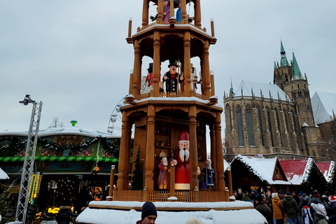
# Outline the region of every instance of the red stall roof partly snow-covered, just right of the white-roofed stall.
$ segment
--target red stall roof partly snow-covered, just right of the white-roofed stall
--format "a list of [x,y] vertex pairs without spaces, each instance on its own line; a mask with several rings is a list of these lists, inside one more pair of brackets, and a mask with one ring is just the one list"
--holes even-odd
[[319,172],[318,175],[321,174],[321,181],[324,181],[326,183],[323,174],[316,166],[314,160],[311,158],[308,158],[308,160],[281,160],[280,164],[283,172],[285,172],[288,180],[293,185],[301,185],[302,183],[307,183],[314,167],[316,167],[316,172]]

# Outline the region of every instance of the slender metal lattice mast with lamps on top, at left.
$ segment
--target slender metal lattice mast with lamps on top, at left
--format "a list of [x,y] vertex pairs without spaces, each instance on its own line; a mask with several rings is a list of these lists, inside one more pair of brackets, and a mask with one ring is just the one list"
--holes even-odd
[[36,103],[30,98],[30,95],[27,94],[25,99],[23,99],[23,101],[20,101],[20,104],[27,106],[29,103],[33,104],[33,110],[31,112],[27,148],[25,153],[25,162],[22,168],[18,207],[16,209],[15,215],[15,221],[21,221],[22,223],[26,223],[27,218],[29,190],[31,184],[31,176],[33,176],[34,170],[34,159],[38,139],[38,127],[40,125],[42,109],[42,102]]

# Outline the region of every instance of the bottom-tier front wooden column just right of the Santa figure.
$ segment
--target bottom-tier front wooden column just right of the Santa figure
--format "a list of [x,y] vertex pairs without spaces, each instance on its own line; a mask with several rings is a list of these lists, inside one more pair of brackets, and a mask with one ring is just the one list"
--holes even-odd
[[189,107],[189,151],[190,151],[190,190],[198,188],[197,168],[197,121],[196,106]]

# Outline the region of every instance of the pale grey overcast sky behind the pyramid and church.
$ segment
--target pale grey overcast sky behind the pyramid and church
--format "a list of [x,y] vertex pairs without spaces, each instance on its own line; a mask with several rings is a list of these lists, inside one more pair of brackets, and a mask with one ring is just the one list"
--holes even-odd
[[[142,2],[0,0],[0,132],[29,129],[31,104],[19,104],[25,94],[43,102],[40,130],[55,117],[66,126],[77,120],[76,126],[107,131],[113,109],[128,94],[134,50],[125,38],[129,18],[132,34],[141,26]],[[201,4],[202,27],[209,34],[211,18],[215,22],[218,41],[209,48],[210,67],[222,106],[231,78],[234,89],[241,79],[273,82],[280,40],[288,61],[294,51],[301,72],[307,73],[311,96],[336,92],[336,1]],[[187,10],[193,15],[193,5]],[[149,62],[144,59],[143,76]],[[198,63],[194,66],[200,71]]]

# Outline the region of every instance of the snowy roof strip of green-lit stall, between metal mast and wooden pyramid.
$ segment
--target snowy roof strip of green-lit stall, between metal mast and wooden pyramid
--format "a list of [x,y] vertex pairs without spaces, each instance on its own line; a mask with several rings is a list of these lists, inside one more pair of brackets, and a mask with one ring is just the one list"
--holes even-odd
[[116,137],[113,134],[109,134],[106,132],[99,132],[96,130],[90,130],[83,127],[52,127],[47,130],[39,130],[38,136],[45,137],[48,135],[59,135],[59,134],[77,134],[83,135],[87,137],[105,137],[105,138],[113,138]]

